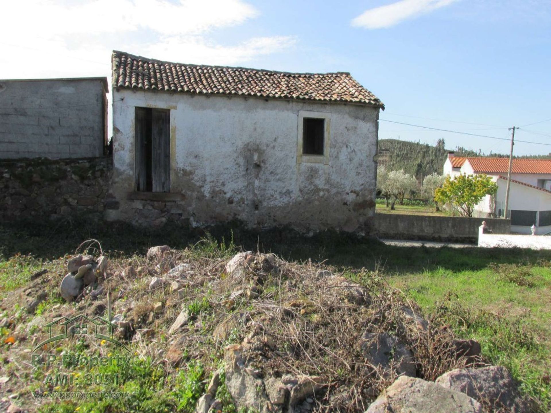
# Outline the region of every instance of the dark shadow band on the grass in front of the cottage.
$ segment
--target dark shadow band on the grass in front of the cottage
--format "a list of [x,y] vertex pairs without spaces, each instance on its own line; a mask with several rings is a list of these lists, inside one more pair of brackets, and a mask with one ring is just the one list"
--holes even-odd
[[122,222],[65,221],[12,222],[0,225],[0,258],[14,254],[33,254],[53,259],[74,253],[85,240],[101,242],[104,251],[123,256],[145,254],[154,245],[172,248],[192,246],[210,233],[219,242],[244,250],[274,252],[287,260],[326,260],[327,264],[345,268],[383,268],[387,273],[409,273],[445,268],[451,271],[479,270],[492,262],[526,263],[551,260],[551,251],[503,248],[432,248],[388,246],[374,238],[358,239],[353,235],[323,231],[305,237],[295,230],[276,228],[266,231],[245,229],[239,222],[206,229],[165,226],[162,229],[138,229]]

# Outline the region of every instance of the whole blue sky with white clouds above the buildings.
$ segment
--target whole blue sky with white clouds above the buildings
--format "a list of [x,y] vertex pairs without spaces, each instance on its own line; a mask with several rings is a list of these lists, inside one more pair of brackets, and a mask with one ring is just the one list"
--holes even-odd
[[[343,71],[385,102],[381,119],[498,138],[515,125],[516,139],[551,144],[551,120],[523,128],[551,119],[549,0],[28,0],[3,14],[0,78],[109,77],[113,49]],[[380,139],[398,136],[509,151],[506,140],[380,123]],[[515,145],[518,155],[548,153]]]

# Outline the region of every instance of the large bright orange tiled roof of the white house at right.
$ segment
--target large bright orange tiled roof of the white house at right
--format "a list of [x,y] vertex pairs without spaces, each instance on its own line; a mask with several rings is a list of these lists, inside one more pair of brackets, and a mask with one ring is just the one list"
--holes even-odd
[[[468,157],[469,164],[477,173],[506,173],[509,158]],[[512,173],[551,173],[551,159],[513,159]]]

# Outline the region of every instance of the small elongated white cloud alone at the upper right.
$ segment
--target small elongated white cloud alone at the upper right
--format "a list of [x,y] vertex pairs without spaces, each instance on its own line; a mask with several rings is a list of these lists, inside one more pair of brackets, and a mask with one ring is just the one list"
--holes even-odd
[[352,25],[366,29],[382,29],[407,19],[448,6],[457,0],[400,0],[386,6],[366,10],[352,20]]

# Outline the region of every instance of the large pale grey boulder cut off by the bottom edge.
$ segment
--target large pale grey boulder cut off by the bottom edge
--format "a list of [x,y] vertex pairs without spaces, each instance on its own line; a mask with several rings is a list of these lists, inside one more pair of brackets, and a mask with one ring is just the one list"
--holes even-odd
[[482,413],[469,396],[422,379],[401,376],[365,413]]

